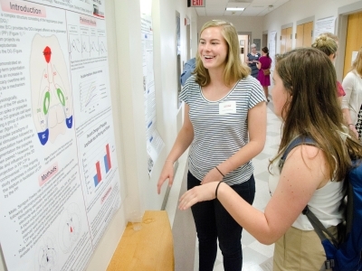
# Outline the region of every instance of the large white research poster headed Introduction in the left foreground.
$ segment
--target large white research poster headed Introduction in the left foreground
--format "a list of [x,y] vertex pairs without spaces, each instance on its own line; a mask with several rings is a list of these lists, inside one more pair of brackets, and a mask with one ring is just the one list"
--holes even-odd
[[0,0],[9,271],[84,270],[120,205],[104,0]]

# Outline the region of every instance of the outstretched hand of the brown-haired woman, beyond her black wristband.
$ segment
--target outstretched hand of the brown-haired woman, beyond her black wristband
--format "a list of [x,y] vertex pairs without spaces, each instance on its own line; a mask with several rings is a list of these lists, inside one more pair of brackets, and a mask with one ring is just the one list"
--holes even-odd
[[209,182],[195,186],[193,189],[185,192],[179,200],[178,209],[186,210],[197,202],[214,200],[218,183],[219,182]]

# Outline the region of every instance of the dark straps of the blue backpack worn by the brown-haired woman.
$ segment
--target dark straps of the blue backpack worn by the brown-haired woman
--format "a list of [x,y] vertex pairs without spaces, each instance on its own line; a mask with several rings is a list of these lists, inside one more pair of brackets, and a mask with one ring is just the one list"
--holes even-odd
[[[317,145],[317,143],[308,136],[297,136],[296,138],[294,138],[291,141],[290,145],[288,145],[287,148],[285,149],[284,154],[281,155],[281,161],[279,162],[280,171],[285,163],[285,160],[287,159],[288,154],[297,145]],[[314,230],[319,236],[320,241],[327,239],[326,235],[324,234],[326,233],[329,236],[329,238],[331,238],[333,245],[336,248],[338,247],[338,241],[336,240],[336,238],[334,238],[333,235],[328,231],[328,229],[326,229],[323,226],[323,224],[319,221],[319,219],[317,219],[315,214],[308,208],[308,205],[304,208],[302,214],[306,215],[308,220],[310,220],[310,224],[311,226],[313,226]]]

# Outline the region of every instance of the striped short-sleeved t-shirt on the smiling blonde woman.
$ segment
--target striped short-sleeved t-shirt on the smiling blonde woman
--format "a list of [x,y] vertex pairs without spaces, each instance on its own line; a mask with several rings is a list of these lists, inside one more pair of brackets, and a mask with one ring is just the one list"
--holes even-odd
[[[214,166],[223,163],[249,142],[248,111],[265,101],[265,96],[259,81],[248,76],[240,79],[224,98],[210,101],[195,83],[195,76],[191,76],[186,80],[180,98],[189,106],[189,117],[194,127],[188,169],[201,182]],[[220,105],[235,105],[236,110],[219,114]],[[224,182],[229,185],[246,182],[252,172],[252,161],[249,161],[226,174]]]

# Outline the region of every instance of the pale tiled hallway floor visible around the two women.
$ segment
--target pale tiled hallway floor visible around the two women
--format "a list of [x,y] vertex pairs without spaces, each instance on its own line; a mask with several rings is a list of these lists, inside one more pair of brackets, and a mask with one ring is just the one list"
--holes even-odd
[[[268,165],[269,159],[273,154],[276,154],[280,143],[281,136],[281,120],[272,112],[272,102],[268,104],[268,126],[265,147],[262,153],[256,156],[252,163],[254,165],[254,177],[256,181],[256,194],[253,206],[259,210],[264,210],[267,202],[270,199],[268,188]],[[183,173],[185,173],[186,155],[184,154],[179,159],[179,168],[176,173],[173,189],[171,189],[169,200],[167,202],[167,212],[170,218],[171,225],[173,225],[175,217],[175,209],[178,199],[179,190],[176,189],[180,185]],[[175,225],[174,225],[175,226]],[[266,271],[271,270],[272,253],[274,245],[265,246],[259,243],[252,237],[246,230],[243,230],[243,270],[246,271]],[[177,244],[175,244],[177,246]],[[195,264],[194,270],[198,270],[198,253],[197,253],[197,240],[195,240]],[[223,271],[223,256],[219,250],[217,253],[214,271]]]

